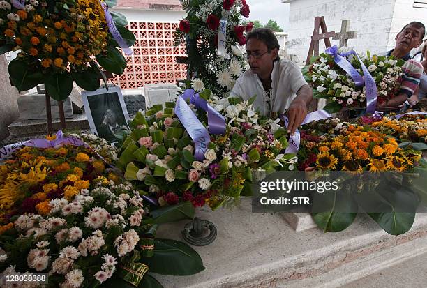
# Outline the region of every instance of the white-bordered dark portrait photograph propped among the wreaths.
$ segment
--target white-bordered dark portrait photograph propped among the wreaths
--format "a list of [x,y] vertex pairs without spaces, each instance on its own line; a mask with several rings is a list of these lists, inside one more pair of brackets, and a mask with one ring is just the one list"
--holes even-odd
[[129,114],[119,87],[83,91],[84,112],[93,134],[116,142],[114,134],[129,130]]

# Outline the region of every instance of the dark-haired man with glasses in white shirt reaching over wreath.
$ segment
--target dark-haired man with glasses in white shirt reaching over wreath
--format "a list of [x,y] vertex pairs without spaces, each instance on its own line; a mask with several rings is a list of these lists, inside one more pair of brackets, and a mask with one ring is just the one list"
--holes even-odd
[[246,35],[249,70],[237,79],[230,96],[248,100],[257,96],[254,107],[265,116],[287,112],[288,132],[293,134],[307,115],[313,92],[291,61],[279,59],[280,45],[270,29],[255,29]]

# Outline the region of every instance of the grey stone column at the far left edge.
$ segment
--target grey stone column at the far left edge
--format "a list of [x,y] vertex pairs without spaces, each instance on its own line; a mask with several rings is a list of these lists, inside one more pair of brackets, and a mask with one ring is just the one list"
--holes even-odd
[[15,87],[10,85],[8,73],[8,61],[6,56],[0,55],[0,142],[9,135],[8,126],[20,116],[17,107],[19,93]]

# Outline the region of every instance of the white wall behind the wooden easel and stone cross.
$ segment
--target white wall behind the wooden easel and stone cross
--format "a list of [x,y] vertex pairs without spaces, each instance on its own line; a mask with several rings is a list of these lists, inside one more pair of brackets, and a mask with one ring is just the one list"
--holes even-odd
[[[389,47],[396,0],[284,0],[283,2],[290,3],[287,53],[297,54],[301,61],[306,61],[316,16],[324,16],[328,31],[336,32],[340,31],[342,20],[350,20],[350,31],[357,31],[358,35],[357,39],[348,41],[348,46],[354,47],[359,52],[366,50],[373,53],[384,52]],[[408,6],[406,2],[412,1],[398,2],[405,2],[401,4]],[[331,44],[338,45],[338,40],[332,40]],[[321,41],[320,51],[323,50],[324,43]]]

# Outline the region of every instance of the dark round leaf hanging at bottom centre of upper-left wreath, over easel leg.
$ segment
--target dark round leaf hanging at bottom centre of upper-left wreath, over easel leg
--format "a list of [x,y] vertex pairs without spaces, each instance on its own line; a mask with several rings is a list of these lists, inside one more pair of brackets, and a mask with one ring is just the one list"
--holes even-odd
[[73,91],[73,77],[70,73],[50,74],[45,77],[46,93],[54,100],[66,100]]

